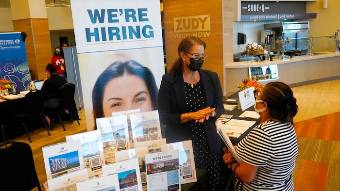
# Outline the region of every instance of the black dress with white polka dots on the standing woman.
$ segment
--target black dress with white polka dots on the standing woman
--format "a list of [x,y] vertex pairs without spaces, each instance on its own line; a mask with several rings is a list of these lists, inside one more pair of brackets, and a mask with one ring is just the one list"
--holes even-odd
[[[195,112],[204,109],[205,95],[202,81],[200,80],[198,83],[193,84],[193,87],[185,81],[184,86],[188,111]],[[191,120],[188,123],[191,125],[190,137],[192,140],[195,165],[197,168],[208,171],[208,185],[210,186],[210,190],[214,191],[216,190],[215,186],[220,174],[219,156],[214,157],[211,154],[204,125],[199,122],[195,123],[195,120]]]

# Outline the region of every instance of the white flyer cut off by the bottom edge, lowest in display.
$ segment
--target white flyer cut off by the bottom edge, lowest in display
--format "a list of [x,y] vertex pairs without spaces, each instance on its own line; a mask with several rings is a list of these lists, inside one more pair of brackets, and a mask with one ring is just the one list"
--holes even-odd
[[[96,179],[77,183],[78,191],[121,191],[119,189],[118,175],[107,175]],[[135,190],[127,190],[135,191]]]

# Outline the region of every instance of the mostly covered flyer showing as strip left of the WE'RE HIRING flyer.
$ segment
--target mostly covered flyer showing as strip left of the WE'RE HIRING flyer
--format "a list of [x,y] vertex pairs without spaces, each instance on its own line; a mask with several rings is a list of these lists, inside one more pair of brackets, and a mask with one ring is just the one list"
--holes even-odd
[[143,191],[147,190],[146,186],[146,166],[145,166],[145,155],[148,154],[148,147],[143,146],[139,148],[133,148],[128,150],[117,151],[115,153],[116,162],[120,162],[128,159],[138,159],[140,179],[142,182]]

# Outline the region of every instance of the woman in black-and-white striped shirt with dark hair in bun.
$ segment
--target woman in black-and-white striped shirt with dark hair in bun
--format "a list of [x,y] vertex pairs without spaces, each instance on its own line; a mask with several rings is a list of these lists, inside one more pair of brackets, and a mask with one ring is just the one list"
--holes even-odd
[[289,86],[268,83],[255,101],[261,122],[235,146],[241,163],[224,148],[223,160],[235,170],[238,191],[294,191],[298,155],[293,117],[298,111]]

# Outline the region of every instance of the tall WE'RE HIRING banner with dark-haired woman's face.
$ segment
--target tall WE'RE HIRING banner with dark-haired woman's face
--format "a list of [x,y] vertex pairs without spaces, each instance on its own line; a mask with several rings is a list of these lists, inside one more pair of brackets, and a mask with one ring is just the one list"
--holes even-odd
[[71,0],[87,130],[112,112],[157,110],[159,0]]

